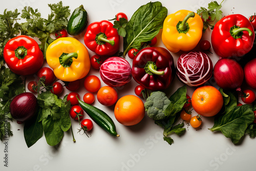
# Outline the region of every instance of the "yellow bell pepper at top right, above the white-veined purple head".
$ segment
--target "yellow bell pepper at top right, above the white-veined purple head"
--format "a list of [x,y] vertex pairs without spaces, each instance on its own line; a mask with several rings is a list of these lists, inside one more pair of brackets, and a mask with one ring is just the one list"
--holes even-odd
[[168,15],[163,23],[162,41],[173,53],[193,50],[202,37],[201,17],[188,10],[179,10]]

